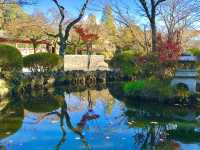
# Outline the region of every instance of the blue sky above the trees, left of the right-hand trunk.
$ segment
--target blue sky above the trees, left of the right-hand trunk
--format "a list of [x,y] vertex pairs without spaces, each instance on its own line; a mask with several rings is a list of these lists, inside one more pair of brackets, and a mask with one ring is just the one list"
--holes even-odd
[[[85,0],[58,0],[61,5],[65,7],[65,9],[69,12],[71,17],[75,17],[78,15],[79,9]],[[126,4],[130,7],[130,9],[135,10],[133,14],[133,18],[140,25],[144,24],[144,18],[141,19],[137,14],[137,7],[134,5],[135,0],[91,0],[90,5],[88,6],[90,9],[87,10],[86,14],[94,13],[97,16],[97,19],[100,20],[102,17],[102,8],[105,3],[122,3]],[[39,9],[40,11],[47,12],[50,8],[56,8],[54,2],[52,0],[37,0],[37,4],[34,6],[24,6],[24,10],[31,14],[34,9]],[[91,10],[92,8],[92,10]],[[94,11],[95,9],[95,11]],[[97,9],[97,10],[96,10]]]

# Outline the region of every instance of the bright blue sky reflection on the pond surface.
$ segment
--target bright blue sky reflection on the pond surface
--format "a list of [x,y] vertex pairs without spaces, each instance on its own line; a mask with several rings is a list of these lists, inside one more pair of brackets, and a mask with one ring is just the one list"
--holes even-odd
[[[67,102],[69,109],[72,108],[69,111],[71,123],[76,127],[82,116],[88,111],[87,101],[81,101],[78,96],[70,95]],[[77,105],[81,109],[74,111]],[[105,100],[103,101],[99,98],[94,103],[93,110],[93,113],[100,115],[100,118],[88,121],[83,130],[83,135],[91,149],[140,149],[135,144],[133,135],[141,129],[128,127],[128,121],[124,115],[126,107],[122,102],[114,100],[112,111],[108,113]],[[42,115],[28,112],[24,118],[23,126],[18,132],[3,139],[0,141],[0,144],[6,145],[8,150],[56,149],[56,145],[60,142],[63,135],[59,117],[52,115],[35,124],[36,120]],[[66,141],[61,144],[60,149],[79,150],[85,148],[80,136],[71,131],[66,124],[65,130]],[[200,149],[198,144],[181,144],[181,147],[183,150]]]

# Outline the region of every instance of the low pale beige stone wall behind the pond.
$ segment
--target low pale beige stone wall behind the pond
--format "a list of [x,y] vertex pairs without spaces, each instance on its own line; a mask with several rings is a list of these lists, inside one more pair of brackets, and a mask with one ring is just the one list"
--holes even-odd
[[103,55],[65,55],[64,70],[95,71],[109,70],[109,67],[108,64],[105,63]]

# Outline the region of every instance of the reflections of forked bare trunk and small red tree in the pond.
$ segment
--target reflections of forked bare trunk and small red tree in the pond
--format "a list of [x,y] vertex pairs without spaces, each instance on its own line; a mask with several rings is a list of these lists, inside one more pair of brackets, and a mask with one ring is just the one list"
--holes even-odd
[[67,100],[66,100],[67,97],[68,97],[68,94],[65,93],[65,96],[63,96],[63,99],[62,100],[60,99],[60,110],[55,110],[55,111],[44,114],[37,121],[37,123],[51,115],[56,115],[59,118],[60,128],[62,131],[62,137],[59,140],[58,144],[56,145],[56,148],[55,148],[56,150],[60,149],[60,147],[65,143],[65,141],[67,139],[67,137],[66,137],[67,133],[66,133],[66,129],[64,127],[65,124],[67,125],[68,129],[70,129],[73,133],[75,133],[76,135],[78,135],[80,137],[80,140],[82,141],[84,147],[86,149],[90,149],[90,146],[87,143],[85,136],[83,135],[83,130],[88,121],[96,120],[99,118],[99,115],[95,114],[93,111],[93,101],[91,98],[91,93],[89,90],[87,91],[88,111],[82,115],[82,117],[81,117],[80,121],[77,123],[76,127],[73,126],[70,115],[68,113],[68,104],[67,104]]

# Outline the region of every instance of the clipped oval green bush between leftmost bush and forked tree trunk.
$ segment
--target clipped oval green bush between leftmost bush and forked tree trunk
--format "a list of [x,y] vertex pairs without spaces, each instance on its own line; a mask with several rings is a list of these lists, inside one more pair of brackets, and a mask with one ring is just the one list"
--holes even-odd
[[36,53],[24,57],[24,67],[32,72],[49,72],[58,69],[60,57],[50,53]]

